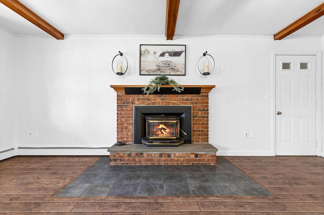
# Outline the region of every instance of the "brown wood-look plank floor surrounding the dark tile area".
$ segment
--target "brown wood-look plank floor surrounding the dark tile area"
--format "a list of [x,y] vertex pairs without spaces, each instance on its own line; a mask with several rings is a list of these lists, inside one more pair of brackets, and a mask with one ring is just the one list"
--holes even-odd
[[0,214],[324,214],[324,157],[228,156],[275,197],[52,197],[100,156],[0,161]]

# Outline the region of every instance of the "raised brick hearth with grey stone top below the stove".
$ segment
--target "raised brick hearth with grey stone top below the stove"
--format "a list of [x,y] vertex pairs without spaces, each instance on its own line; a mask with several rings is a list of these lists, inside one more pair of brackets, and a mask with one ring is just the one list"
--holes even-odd
[[217,148],[195,143],[177,147],[127,144],[108,151],[110,165],[216,165]]

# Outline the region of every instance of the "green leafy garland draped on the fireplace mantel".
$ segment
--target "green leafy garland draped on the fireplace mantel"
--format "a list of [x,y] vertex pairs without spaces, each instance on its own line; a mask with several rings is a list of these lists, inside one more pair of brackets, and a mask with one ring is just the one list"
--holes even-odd
[[184,87],[178,84],[174,79],[162,75],[151,79],[148,84],[144,88],[142,88],[143,93],[150,94],[155,92],[156,90],[159,92],[161,85],[171,85],[173,86],[173,91],[177,92],[184,90]]

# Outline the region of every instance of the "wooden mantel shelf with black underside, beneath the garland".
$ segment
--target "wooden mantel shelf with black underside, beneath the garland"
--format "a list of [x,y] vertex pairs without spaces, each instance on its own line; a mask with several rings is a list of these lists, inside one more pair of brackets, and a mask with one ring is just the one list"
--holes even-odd
[[[142,88],[146,85],[110,85],[116,92],[125,94],[143,94]],[[200,94],[201,92],[210,92],[215,85],[182,85],[184,87],[183,92],[172,91],[173,86],[162,85],[160,92],[154,92],[153,94]]]

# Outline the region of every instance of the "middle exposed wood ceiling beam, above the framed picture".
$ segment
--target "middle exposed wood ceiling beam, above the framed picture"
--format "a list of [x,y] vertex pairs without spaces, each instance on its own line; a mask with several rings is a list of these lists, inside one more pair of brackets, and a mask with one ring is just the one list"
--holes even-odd
[[172,40],[176,31],[180,0],[167,0],[166,37]]

